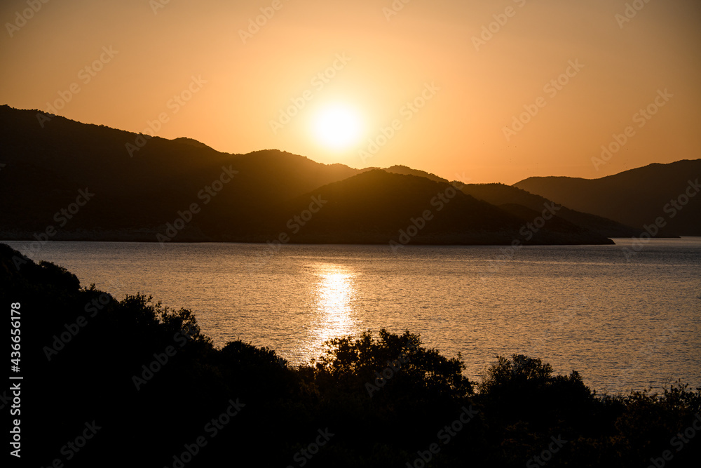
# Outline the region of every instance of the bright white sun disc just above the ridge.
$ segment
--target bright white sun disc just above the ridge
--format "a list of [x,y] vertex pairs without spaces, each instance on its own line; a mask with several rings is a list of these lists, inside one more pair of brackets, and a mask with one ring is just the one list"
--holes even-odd
[[358,141],[361,133],[360,115],[347,105],[328,105],[315,116],[314,134],[327,147],[348,149]]

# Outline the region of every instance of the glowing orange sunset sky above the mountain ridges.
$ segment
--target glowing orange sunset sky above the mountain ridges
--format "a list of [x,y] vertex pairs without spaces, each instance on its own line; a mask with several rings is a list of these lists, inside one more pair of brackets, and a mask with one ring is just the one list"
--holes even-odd
[[3,0],[0,18],[1,104],[222,152],[507,184],[701,157],[698,0]]

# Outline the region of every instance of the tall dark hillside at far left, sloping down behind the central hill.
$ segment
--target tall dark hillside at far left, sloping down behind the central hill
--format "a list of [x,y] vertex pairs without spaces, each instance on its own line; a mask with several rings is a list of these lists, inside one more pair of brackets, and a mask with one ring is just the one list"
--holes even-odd
[[[226,154],[189,138],[146,138],[61,116],[42,127],[38,114],[0,106],[6,164],[0,171],[0,234],[6,239],[28,239],[53,225],[62,228],[54,239],[153,241],[192,203],[201,211],[179,240],[217,239],[281,200],[358,172],[273,149]],[[238,173],[209,195],[207,187],[223,168]],[[60,226],[55,213],[86,187],[95,196]]]

